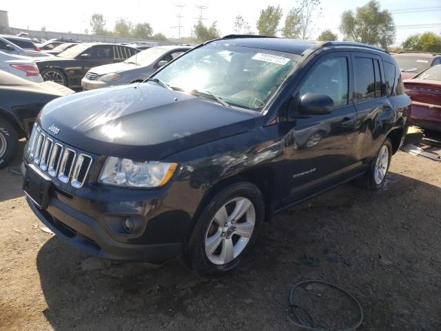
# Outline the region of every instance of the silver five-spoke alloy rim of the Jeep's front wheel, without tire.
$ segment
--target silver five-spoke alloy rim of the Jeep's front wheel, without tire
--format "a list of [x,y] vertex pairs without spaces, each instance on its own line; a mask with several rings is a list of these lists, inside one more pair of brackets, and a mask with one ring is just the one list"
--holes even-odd
[[252,237],[256,210],[249,199],[239,197],[225,203],[214,215],[205,234],[209,261],[223,265],[243,252]]

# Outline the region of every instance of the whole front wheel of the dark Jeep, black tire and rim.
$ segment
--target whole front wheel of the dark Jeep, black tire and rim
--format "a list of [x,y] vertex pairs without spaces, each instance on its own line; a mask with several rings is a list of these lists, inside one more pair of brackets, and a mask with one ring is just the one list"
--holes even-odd
[[[239,210],[247,206],[242,217],[232,217],[240,215]],[[243,263],[252,249],[264,217],[263,195],[255,185],[244,182],[228,186],[216,194],[198,217],[183,248],[185,262],[197,274],[222,274],[233,270]],[[224,220],[227,226],[225,223],[219,225]]]

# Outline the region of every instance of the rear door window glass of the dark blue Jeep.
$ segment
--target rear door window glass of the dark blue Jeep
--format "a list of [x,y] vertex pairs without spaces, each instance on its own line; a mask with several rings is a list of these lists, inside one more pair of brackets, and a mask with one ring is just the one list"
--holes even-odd
[[358,101],[374,99],[376,88],[372,59],[356,57],[353,61],[353,76],[355,80],[354,98]]

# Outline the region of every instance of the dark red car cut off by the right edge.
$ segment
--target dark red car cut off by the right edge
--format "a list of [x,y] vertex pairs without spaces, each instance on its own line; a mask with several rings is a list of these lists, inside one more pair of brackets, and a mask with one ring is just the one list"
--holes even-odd
[[405,80],[404,89],[412,100],[412,123],[441,132],[441,65]]

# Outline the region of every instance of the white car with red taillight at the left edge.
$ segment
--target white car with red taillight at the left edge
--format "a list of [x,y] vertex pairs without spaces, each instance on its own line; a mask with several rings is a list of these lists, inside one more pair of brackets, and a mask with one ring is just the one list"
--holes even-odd
[[21,57],[0,51],[0,70],[10,72],[34,83],[43,83],[39,68],[30,57]]

